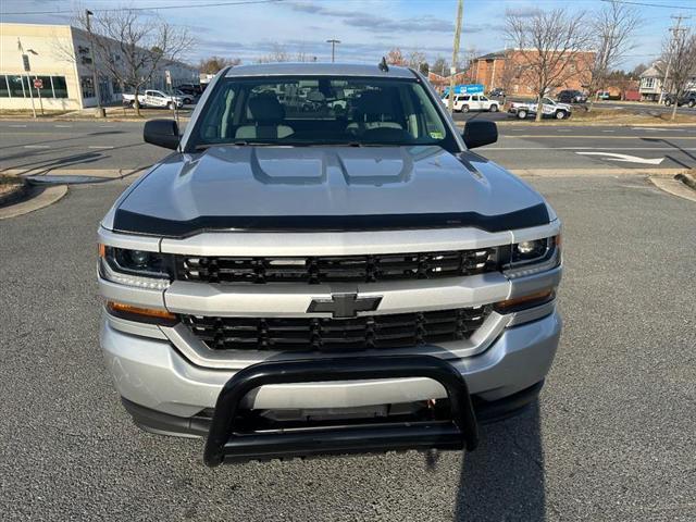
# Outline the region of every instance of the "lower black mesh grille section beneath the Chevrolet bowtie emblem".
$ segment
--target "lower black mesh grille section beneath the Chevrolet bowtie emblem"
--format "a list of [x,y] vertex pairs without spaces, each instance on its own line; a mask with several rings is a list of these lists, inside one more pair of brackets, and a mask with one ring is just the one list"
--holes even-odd
[[490,307],[331,318],[217,318],[182,315],[214,350],[356,351],[467,339]]

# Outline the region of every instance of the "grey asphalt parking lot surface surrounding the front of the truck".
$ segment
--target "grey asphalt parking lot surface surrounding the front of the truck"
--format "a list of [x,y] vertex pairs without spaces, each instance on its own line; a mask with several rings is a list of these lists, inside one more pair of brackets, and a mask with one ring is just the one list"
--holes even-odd
[[0,221],[2,520],[696,520],[696,204],[638,174],[529,179],[564,221],[538,407],[471,455],[226,465],[136,428],[98,346],[96,231],[123,182]]

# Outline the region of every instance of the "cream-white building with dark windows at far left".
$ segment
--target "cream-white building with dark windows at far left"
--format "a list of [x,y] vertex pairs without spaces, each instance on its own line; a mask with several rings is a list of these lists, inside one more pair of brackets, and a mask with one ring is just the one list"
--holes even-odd
[[[28,57],[25,71],[23,52]],[[115,42],[114,42],[115,46]],[[163,63],[146,88],[166,89],[165,70],[172,85],[198,83],[198,70],[181,62]],[[101,102],[121,100],[122,86],[97,64]],[[42,86],[35,88],[40,79]],[[29,89],[30,92],[29,92]],[[87,33],[70,25],[0,24],[0,110],[79,110],[97,104]]]

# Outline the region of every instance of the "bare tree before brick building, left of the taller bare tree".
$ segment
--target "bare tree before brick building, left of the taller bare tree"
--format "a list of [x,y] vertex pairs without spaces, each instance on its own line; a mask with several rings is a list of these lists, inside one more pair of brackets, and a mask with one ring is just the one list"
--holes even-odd
[[585,14],[571,15],[564,9],[536,11],[532,16],[508,12],[506,33],[518,48],[523,77],[536,92],[536,121],[540,121],[542,98],[582,73],[591,42]]

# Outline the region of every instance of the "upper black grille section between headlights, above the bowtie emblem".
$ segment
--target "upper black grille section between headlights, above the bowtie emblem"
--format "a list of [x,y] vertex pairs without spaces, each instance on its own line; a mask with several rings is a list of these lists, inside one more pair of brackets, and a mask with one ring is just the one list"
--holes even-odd
[[332,257],[176,257],[178,279],[306,283],[431,279],[497,270],[496,249]]

